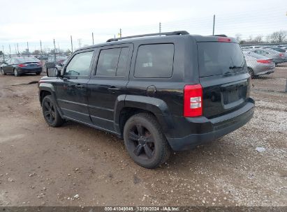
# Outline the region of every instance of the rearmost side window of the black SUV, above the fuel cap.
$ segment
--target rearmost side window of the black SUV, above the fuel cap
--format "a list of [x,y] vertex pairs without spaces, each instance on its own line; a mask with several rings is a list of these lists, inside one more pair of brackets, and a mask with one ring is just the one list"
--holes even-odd
[[174,53],[173,44],[141,45],[135,62],[135,77],[171,77]]

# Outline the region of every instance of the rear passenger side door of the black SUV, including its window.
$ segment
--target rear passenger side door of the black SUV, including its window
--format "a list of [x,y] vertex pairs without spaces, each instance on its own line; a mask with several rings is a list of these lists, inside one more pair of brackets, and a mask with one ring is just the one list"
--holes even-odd
[[89,114],[98,128],[115,131],[115,104],[126,95],[132,52],[132,44],[98,48],[96,69],[87,85]]

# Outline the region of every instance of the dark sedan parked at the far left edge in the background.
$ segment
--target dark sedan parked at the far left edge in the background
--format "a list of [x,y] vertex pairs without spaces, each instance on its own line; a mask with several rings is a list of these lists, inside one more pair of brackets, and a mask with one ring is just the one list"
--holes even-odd
[[13,57],[0,66],[1,75],[14,74],[15,77],[19,77],[24,73],[40,75],[41,72],[41,61],[36,57]]

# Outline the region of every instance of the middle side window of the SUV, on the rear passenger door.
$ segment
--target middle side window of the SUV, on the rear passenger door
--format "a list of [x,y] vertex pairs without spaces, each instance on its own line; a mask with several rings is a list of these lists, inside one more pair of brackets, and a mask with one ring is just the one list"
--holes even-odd
[[96,76],[124,77],[128,61],[128,47],[101,50],[96,66]]

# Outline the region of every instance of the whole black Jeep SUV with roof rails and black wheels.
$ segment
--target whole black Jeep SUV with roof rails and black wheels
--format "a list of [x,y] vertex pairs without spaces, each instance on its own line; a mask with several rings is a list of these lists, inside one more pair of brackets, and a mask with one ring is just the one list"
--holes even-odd
[[253,116],[240,45],[186,31],[114,38],[83,47],[39,83],[45,121],[65,119],[124,138],[128,154],[154,168]]

